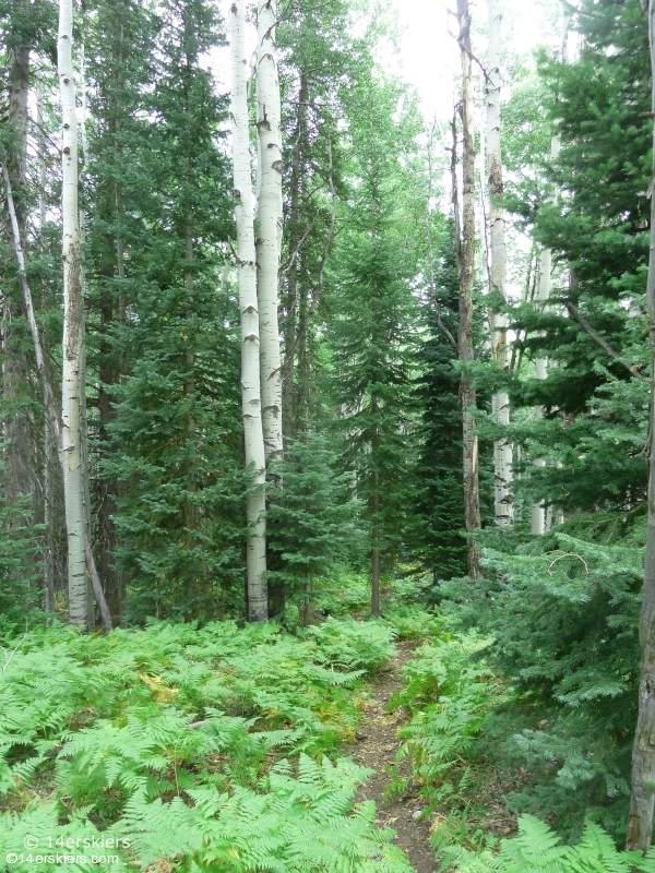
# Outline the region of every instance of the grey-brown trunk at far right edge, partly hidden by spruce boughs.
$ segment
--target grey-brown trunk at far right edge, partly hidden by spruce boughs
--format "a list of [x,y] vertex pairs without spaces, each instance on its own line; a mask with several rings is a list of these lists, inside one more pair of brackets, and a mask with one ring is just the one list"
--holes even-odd
[[[652,109],[655,111],[655,0],[647,7],[651,45]],[[655,145],[655,130],[653,135]],[[653,152],[655,178],[655,150]],[[626,848],[647,851],[653,839],[655,811],[655,196],[651,195],[651,249],[646,300],[651,332],[651,441],[648,456],[648,534],[639,639],[641,678],[639,715],[632,749],[632,778]]]

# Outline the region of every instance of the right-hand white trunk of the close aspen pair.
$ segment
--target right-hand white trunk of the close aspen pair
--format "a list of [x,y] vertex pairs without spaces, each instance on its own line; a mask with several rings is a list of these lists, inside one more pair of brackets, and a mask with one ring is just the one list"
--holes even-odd
[[[257,16],[258,215],[262,423],[266,464],[283,456],[278,273],[282,249],[282,134],[275,23],[277,0],[259,0]],[[279,475],[273,470],[279,485]]]

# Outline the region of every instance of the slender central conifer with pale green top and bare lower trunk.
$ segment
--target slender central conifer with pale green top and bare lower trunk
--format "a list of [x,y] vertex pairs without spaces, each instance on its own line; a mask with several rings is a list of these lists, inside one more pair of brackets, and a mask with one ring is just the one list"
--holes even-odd
[[348,232],[342,235],[337,251],[341,270],[332,303],[338,312],[332,325],[334,398],[355,493],[367,507],[373,615],[380,609],[383,562],[393,563],[401,548],[398,518],[412,469],[407,340],[414,301],[406,234],[414,191],[398,154],[401,147],[412,154],[415,121],[412,105],[402,121],[394,121],[401,96],[393,86],[374,81],[365,82],[355,95],[358,111],[352,115],[350,135],[358,183],[348,210]]

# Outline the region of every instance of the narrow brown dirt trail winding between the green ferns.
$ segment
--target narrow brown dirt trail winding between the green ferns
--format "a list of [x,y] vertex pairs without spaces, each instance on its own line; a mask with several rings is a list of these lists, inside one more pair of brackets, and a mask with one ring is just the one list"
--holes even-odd
[[401,711],[389,715],[385,707],[393,694],[403,686],[403,667],[412,660],[416,644],[401,643],[397,648],[397,656],[372,683],[374,696],[367,706],[358,741],[353,745],[350,754],[358,764],[377,770],[359,790],[358,799],[376,801],[378,824],[396,832],[394,842],[405,851],[416,873],[436,873],[434,850],[428,842],[430,822],[418,818],[421,805],[412,794],[412,789],[391,802],[384,802],[383,799],[389,786],[386,767],[395,763],[401,745],[396,733],[403,721]]

